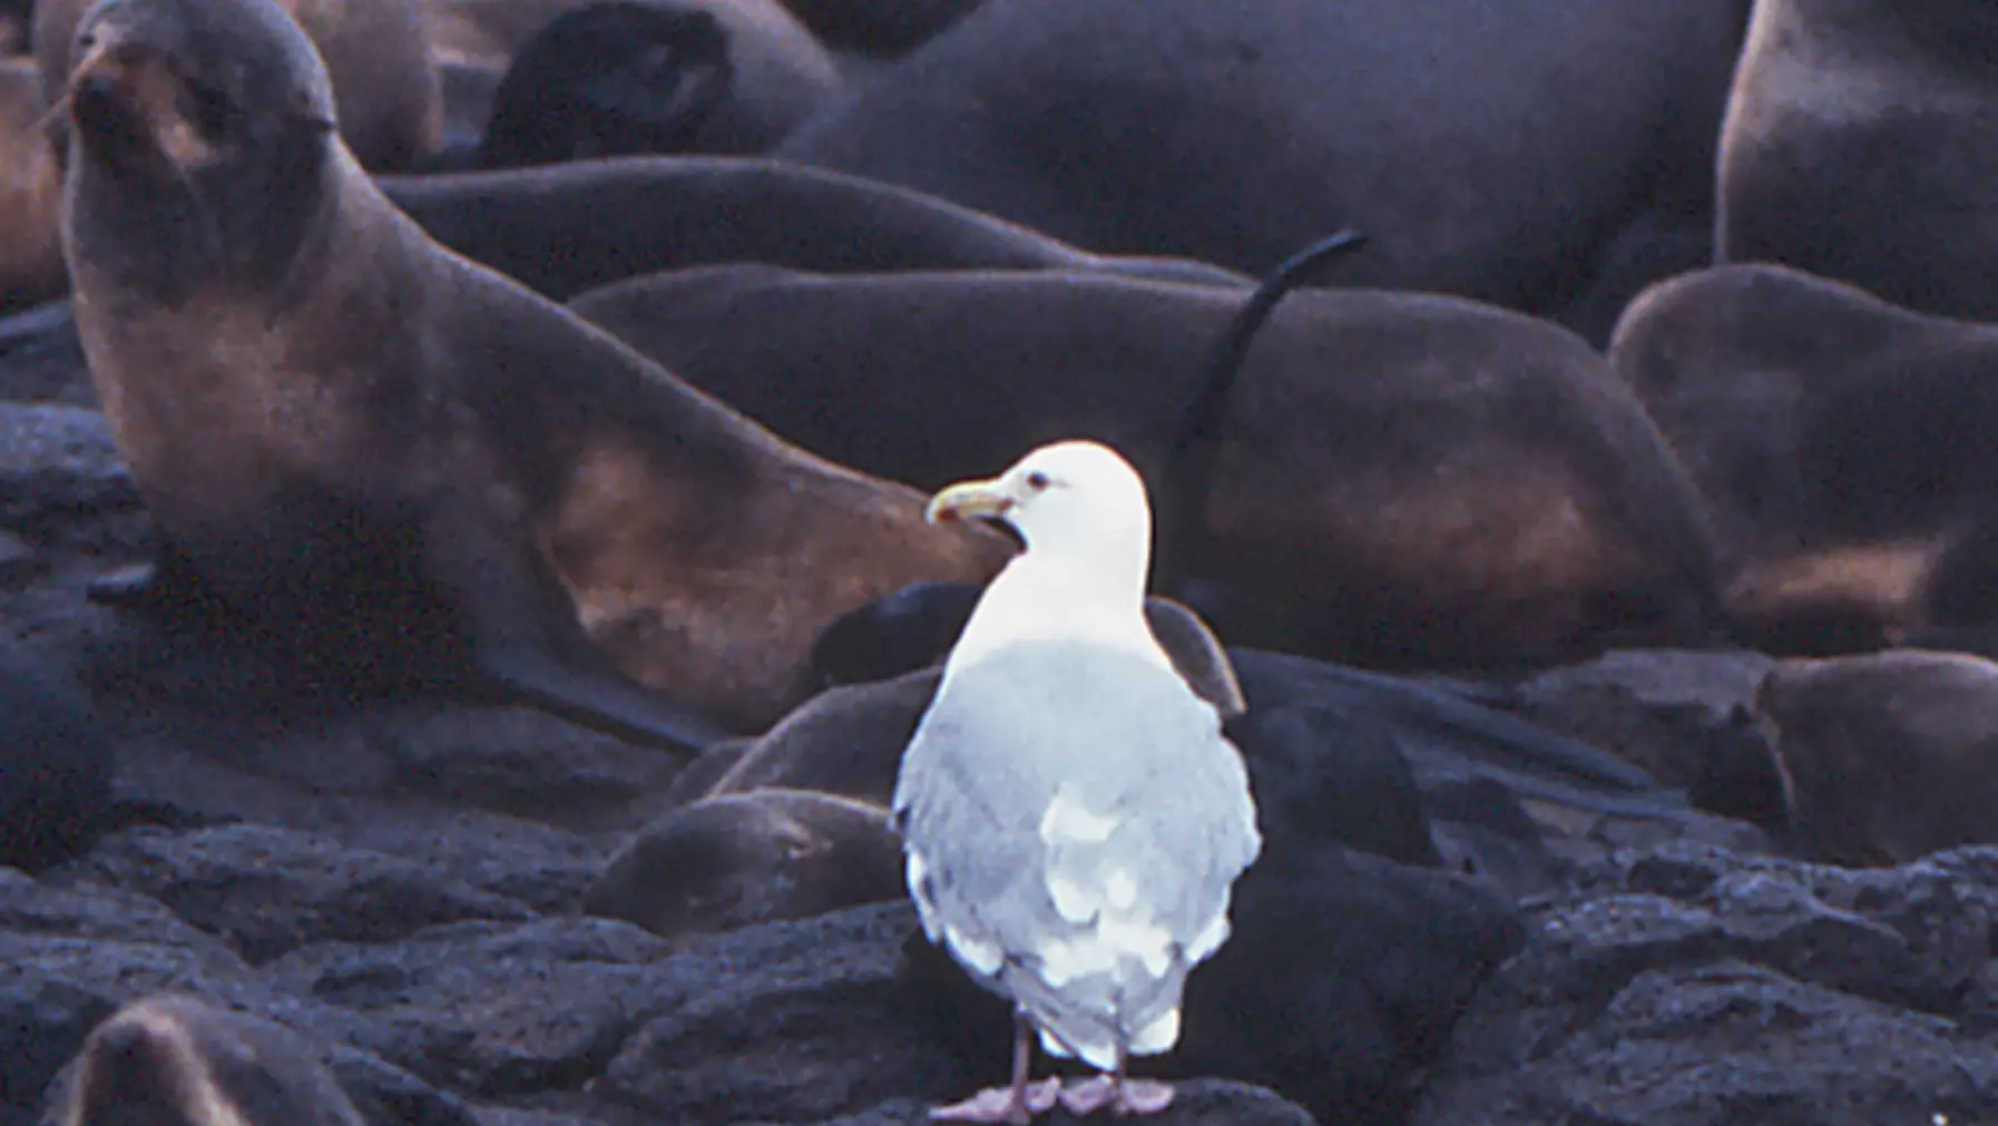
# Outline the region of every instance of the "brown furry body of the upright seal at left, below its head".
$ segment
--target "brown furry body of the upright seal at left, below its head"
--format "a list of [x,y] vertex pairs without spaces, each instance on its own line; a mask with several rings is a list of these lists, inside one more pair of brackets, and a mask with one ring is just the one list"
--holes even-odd
[[[264,0],[206,2],[238,18]],[[82,66],[100,68],[120,70]],[[142,76],[158,62],[122,70],[126,96],[172,136],[178,114]],[[785,445],[436,246],[328,148],[326,210],[282,278],[216,270],[174,278],[168,295],[128,282],[158,248],[94,220],[116,196],[70,176],[78,327],[120,453],[160,525],[238,605],[272,599],[314,551],[404,521],[410,565],[474,641],[559,641],[579,625],[631,679],[753,731],[809,691],[807,653],[829,621],[1003,563],[997,535],[925,525],[919,493]],[[230,250],[254,250],[258,234],[230,230],[216,232],[240,240]]]

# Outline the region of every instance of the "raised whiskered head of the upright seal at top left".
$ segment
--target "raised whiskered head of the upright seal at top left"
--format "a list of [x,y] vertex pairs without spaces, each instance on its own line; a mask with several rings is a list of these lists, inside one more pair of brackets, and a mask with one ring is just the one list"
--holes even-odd
[[66,86],[72,270],[174,301],[268,289],[340,174],[334,90],[272,0],[102,0]]

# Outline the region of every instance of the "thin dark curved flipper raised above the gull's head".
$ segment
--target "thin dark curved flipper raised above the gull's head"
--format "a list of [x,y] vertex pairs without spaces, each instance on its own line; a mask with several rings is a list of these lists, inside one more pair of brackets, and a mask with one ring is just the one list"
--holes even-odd
[[[1157,489],[1159,495],[1153,501],[1159,519],[1153,589],[1179,593],[1189,579],[1203,571],[1207,501],[1215,491],[1215,461],[1221,457],[1221,443],[1227,435],[1229,393],[1241,377],[1243,359],[1249,355],[1249,343],[1257,329],[1269,321],[1277,303],[1291,289],[1363,246],[1367,246],[1367,236],[1351,230],[1311,244],[1279,266],[1249,295],[1249,303],[1229,321],[1229,329],[1221,333],[1207,359],[1207,381],[1187,405],[1187,413],[1181,415],[1179,433],[1173,435],[1173,447],[1167,453],[1163,487]],[[1195,605],[1195,609],[1201,607]]]

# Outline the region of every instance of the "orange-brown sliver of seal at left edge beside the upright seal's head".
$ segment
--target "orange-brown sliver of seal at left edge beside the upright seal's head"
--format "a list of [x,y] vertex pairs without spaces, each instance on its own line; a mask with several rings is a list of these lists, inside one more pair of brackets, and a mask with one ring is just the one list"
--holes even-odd
[[32,58],[0,60],[0,309],[62,293],[62,172]]

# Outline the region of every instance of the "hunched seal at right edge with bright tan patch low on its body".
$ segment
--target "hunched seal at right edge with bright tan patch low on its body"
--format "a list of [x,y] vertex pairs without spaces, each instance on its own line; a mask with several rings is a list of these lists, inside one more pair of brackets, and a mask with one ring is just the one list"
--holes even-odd
[[1706,495],[1742,641],[1876,649],[1998,611],[1972,581],[1998,563],[1972,535],[1994,503],[1998,327],[1736,264],[1646,289],[1610,365]]

